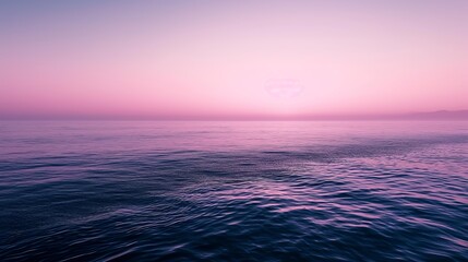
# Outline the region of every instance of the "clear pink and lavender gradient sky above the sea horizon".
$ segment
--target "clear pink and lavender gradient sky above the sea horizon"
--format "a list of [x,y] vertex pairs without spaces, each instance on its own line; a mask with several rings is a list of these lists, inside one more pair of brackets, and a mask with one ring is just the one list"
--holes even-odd
[[3,0],[0,118],[468,109],[466,0]]

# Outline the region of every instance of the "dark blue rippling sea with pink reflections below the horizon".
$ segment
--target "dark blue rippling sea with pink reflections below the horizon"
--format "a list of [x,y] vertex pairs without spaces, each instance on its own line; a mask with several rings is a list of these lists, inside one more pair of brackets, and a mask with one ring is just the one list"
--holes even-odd
[[0,122],[0,261],[468,261],[468,122]]

